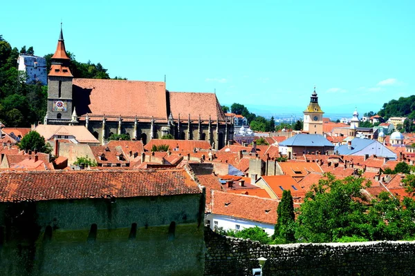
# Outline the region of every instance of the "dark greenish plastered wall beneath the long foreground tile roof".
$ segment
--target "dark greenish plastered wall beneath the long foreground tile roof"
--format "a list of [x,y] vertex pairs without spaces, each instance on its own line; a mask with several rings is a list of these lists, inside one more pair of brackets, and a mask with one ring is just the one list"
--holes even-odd
[[203,275],[204,201],[197,194],[1,203],[1,274]]

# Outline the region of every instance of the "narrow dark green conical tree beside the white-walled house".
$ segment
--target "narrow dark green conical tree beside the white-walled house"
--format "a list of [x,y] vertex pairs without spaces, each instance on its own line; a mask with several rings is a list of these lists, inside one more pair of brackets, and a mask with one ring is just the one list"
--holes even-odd
[[286,242],[295,242],[294,201],[290,190],[284,190],[282,193],[282,199],[277,208],[277,216],[273,239],[279,237]]

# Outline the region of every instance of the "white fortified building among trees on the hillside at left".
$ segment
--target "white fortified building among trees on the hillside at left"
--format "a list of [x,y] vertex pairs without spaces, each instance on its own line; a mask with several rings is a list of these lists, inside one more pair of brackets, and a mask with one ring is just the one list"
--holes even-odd
[[26,83],[37,83],[39,81],[44,86],[48,84],[46,59],[43,57],[19,55],[17,66],[17,70],[26,72]]

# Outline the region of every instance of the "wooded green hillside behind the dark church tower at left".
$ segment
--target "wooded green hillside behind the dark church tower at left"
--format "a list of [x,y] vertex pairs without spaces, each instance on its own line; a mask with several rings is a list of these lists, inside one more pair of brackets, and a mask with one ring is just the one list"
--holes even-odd
[[[0,121],[8,127],[29,127],[30,124],[43,121],[46,115],[48,87],[41,83],[25,83],[26,75],[17,70],[17,58],[20,54],[35,55],[33,46],[21,50],[12,47],[0,34]],[[50,57],[45,55],[47,68],[50,68]],[[107,69],[101,63],[79,62],[73,53],[69,68],[73,77],[110,79]],[[123,79],[116,77],[115,79]]]

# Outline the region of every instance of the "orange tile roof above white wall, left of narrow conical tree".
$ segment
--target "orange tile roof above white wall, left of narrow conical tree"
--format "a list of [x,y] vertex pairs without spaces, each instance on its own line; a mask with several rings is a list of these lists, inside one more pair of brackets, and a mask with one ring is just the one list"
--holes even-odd
[[212,191],[212,213],[216,215],[276,224],[278,204],[275,199]]

